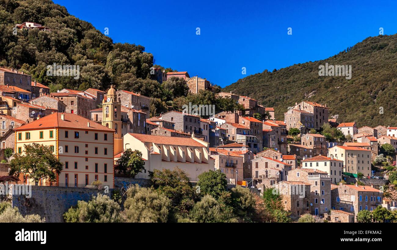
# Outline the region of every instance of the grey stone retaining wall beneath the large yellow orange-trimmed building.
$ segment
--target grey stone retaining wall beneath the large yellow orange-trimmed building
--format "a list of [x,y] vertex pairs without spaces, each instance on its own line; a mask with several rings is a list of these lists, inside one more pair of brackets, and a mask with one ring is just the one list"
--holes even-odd
[[25,195],[12,195],[12,206],[17,207],[22,215],[39,214],[46,222],[64,222],[63,214],[71,207],[77,205],[77,201],[89,201],[98,193],[104,193],[104,189],[75,188],[75,187],[49,187],[31,186],[31,197]]

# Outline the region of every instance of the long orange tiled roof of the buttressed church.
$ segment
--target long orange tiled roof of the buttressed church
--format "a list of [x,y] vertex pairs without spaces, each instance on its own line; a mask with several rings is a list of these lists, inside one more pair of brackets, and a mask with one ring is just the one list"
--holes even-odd
[[129,133],[141,142],[152,142],[156,144],[167,144],[167,145],[180,145],[180,146],[193,146],[193,147],[205,147],[202,143],[192,139],[175,136],[159,136],[151,134],[134,134]]

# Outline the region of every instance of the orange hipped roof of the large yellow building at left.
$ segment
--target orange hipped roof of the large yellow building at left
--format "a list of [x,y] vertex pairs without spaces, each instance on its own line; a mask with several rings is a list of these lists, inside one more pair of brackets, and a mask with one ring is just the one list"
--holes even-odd
[[[61,119],[61,115],[64,115],[64,120]],[[90,123],[90,127],[88,127],[88,123]],[[59,113],[54,112],[48,116],[44,116],[38,120],[34,120],[31,123],[27,123],[19,128],[16,128],[15,131],[21,130],[34,130],[34,129],[43,129],[43,128],[71,128],[71,129],[87,129],[87,130],[104,130],[113,132],[113,129],[109,129],[108,127],[102,126],[99,123],[91,121],[87,118],[76,114],[69,113]]]

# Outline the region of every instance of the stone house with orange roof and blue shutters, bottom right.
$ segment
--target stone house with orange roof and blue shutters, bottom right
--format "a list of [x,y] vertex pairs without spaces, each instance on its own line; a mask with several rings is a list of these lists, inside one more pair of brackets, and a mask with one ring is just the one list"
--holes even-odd
[[[375,210],[382,205],[382,191],[370,186],[331,185],[332,209],[351,212],[357,216],[361,210]],[[357,221],[357,218],[355,218]]]

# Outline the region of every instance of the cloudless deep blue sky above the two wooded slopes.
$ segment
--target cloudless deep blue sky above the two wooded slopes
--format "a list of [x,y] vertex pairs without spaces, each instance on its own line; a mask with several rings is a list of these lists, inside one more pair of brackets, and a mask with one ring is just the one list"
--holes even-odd
[[380,27],[397,33],[397,1],[54,2],[102,33],[109,28],[114,42],[145,46],[156,64],[222,87],[265,69],[325,59],[378,36]]

